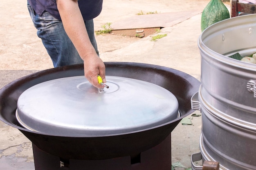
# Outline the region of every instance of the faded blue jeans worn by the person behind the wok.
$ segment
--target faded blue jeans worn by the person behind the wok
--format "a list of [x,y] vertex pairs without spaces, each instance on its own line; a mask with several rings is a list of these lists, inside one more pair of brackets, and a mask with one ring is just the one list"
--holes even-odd
[[[67,36],[61,20],[57,20],[46,11],[42,16],[39,16],[29,4],[27,7],[34,26],[37,29],[37,35],[41,38],[47,53],[52,59],[54,67],[83,63],[76,48]],[[94,36],[93,20],[85,21],[85,26],[90,41],[99,55]]]

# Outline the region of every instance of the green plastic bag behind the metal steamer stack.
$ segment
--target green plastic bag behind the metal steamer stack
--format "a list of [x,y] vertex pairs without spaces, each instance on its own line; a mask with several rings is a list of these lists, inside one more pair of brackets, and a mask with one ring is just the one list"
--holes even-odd
[[208,26],[230,18],[229,10],[221,0],[211,0],[204,8],[201,17],[201,31]]

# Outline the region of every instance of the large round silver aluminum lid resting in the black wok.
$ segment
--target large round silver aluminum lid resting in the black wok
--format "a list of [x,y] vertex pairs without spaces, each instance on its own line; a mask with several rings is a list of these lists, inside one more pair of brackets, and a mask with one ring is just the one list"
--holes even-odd
[[106,79],[105,93],[84,76],[36,84],[18,98],[16,118],[27,129],[72,137],[135,132],[177,118],[177,99],[165,88],[125,77]]

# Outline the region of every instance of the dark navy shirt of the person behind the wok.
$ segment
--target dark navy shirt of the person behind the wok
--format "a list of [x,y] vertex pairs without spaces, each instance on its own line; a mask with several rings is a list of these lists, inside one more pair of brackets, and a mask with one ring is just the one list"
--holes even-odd
[[[102,10],[103,0],[79,0],[79,8],[84,20],[91,20],[97,17]],[[56,0],[27,0],[34,11],[42,16],[44,11],[49,12],[54,18],[61,20],[57,9]]]

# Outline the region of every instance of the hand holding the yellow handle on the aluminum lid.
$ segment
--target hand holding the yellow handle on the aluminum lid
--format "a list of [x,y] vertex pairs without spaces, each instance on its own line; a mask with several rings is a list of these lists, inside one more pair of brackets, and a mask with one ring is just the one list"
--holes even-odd
[[101,76],[102,82],[106,83],[106,75],[105,75],[105,64],[100,59],[100,57],[95,53],[92,55],[88,55],[84,59],[84,73],[85,78],[97,88],[103,88],[101,84],[98,82],[98,75]]

